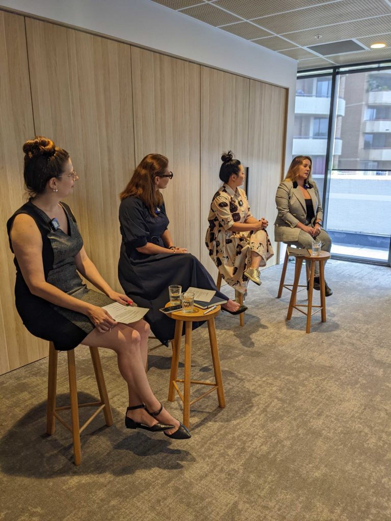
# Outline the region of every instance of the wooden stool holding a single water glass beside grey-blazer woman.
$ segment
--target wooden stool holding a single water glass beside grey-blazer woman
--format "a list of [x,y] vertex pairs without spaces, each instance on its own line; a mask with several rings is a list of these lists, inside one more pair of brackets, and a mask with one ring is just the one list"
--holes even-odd
[[[325,295],[325,288],[324,288],[324,263],[331,257],[331,254],[328,252],[321,251],[319,255],[312,255],[310,253],[308,255],[303,256],[297,256],[296,257],[296,264],[295,264],[295,281],[294,285],[292,287],[292,293],[290,295],[290,302],[288,307],[288,314],[286,319],[290,320],[292,318],[292,312],[295,309],[297,311],[300,311],[300,313],[303,313],[303,315],[307,316],[307,327],[306,327],[306,333],[311,332],[311,317],[318,311],[321,311],[322,315],[322,322],[326,321],[326,295]],[[297,288],[299,286],[299,279],[300,279],[300,272],[301,272],[301,265],[303,264],[303,261],[310,261],[311,263],[311,269],[310,269],[310,287],[308,290],[308,304],[297,304],[296,303],[296,294],[297,294]],[[312,305],[312,293],[314,289],[314,275],[315,275],[315,262],[319,262],[319,282],[321,287],[321,304],[320,306]],[[307,307],[307,312],[303,311],[301,308]],[[315,311],[312,311],[312,308],[316,307]]]

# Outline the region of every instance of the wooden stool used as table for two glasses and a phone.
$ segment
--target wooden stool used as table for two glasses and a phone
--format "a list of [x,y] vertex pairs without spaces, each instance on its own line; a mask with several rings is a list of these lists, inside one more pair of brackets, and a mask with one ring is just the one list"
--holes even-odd
[[[169,305],[166,304],[166,305]],[[175,399],[175,391],[179,394],[179,398],[184,404],[184,419],[183,424],[186,427],[190,425],[190,405],[198,402],[201,398],[204,398],[207,394],[210,394],[214,390],[217,391],[218,406],[225,407],[224,388],[223,388],[223,377],[221,374],[220,357],[218,355],[218,346],[216,338],[216,327],[214,324],[214,318],[220,313],[221,306],[217,306],[214,311],[204,315],[204,310],[194,307],[193,313],[183,313],[177,311],[170,313],[168,316],[173,318],[175,322],[175,336],[173,342],[173,358],[171,362],[171,374],[170,383],[168,389],[168,400],[173,402]],[[204,382],[199,380],[191,379],[191,332],[192,322],[200,322],[201,320],[207,320],[207,329],[209,332],[209,341],[211,344],[212,362],[214,370],[214,382]],[[178,379],[178,364],[179,364],[179,352],[182,336],[182,328],[185,322],[185,375],[183,379]],[[182,382],[184,384],[183,394],[180,392],[177,383]],[[209,389],[205,391],[201,396],[190,401],[190,384],[197,383],[201,386],[209,386]]]

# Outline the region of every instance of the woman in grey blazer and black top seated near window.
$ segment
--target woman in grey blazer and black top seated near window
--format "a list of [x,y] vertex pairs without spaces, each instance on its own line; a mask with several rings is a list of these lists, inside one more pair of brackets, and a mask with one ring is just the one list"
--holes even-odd
[[[322,228],[323,210],[319,190],[311,177],[312,160],[297,156],[289,166],[286,178],[276,193],[278,216],[274,237],[302,248],[311,249],[312,241],[321,241],[322,250],[331,251],[331,238]],[[326,286],[326,296],[332,295]],[[320,290],[319,263],[315,263],[314,289]]]

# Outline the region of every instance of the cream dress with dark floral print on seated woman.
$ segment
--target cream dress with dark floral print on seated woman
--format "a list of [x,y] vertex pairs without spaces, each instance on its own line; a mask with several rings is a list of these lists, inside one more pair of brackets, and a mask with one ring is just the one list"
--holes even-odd
[[205,244],[222,278],[241,293],[247,291],[245,271],[251,263],[251,251],[262,257],[261,266],[274,255],[265,230],[229,231],[235,222],[245,222],[249,217],[252,214],[246,192],[240,188],[234,192],[224,183],[212,199]]

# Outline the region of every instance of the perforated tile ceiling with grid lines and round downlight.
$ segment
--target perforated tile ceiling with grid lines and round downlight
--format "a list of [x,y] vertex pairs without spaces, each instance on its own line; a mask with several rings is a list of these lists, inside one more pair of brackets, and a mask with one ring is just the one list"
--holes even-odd
[[[391,0],[153,2],[294,58],[299,70],[391,60]],[[309,48],[343,40],[353,40],[363,48],[327,56]],[[387,46],[371,49],[374,42]]]

